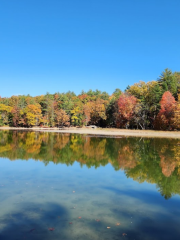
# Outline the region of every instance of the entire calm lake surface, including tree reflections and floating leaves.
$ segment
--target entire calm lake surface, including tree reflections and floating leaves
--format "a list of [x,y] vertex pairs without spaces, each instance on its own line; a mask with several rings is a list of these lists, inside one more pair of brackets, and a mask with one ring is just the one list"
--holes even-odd
[[180,140],[0,131],[0,239],[179,240]]

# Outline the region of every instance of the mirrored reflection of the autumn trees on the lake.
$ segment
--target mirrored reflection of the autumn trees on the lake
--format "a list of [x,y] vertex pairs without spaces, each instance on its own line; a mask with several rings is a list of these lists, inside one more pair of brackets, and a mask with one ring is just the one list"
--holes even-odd
[[110,163],[142,183],[154,183],[166,199],[180,194],[180,140],[98,138],[78,134],[0,131],[0,157],[34,159],[88,168]]

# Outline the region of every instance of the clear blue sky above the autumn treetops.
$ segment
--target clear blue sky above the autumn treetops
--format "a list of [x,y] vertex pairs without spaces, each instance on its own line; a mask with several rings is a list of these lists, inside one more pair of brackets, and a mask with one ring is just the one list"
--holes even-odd
[[112,93],[180,71],[179,0],[1,0],[0,96]]

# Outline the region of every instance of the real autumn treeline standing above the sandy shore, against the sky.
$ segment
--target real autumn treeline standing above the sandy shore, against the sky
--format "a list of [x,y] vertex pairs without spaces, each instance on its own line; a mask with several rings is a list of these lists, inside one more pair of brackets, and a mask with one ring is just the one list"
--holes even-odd
[[180,129],[180,72],[165,69],[112,95],[99,90],[0,98],[0,126],[87,126]]

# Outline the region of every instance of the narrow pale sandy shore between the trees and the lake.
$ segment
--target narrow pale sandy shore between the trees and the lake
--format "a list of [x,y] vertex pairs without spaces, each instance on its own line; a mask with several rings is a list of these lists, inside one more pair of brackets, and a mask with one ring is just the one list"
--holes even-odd
[[153,131],[153,130],[129,130],[129,129],[116,129],[116,128],[15,128],[15,127],[0,127],[0,130],[24,130],[24,131],[41,131],[41,132],[59,132],[59,133],[78,133],[86,135],[97,136],[135,136],[147,138],[180,138],[180,131]]

